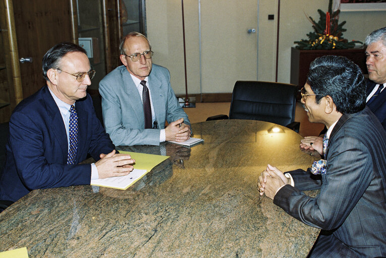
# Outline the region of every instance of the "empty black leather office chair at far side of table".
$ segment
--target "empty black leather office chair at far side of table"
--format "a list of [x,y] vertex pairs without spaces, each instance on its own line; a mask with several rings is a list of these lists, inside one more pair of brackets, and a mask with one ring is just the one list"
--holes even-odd
[[250,119],[277,123],[299,132],[294,122],[296,85],[260,81],[237,81],[233,88],[229,117],[210,116],[206,120]]

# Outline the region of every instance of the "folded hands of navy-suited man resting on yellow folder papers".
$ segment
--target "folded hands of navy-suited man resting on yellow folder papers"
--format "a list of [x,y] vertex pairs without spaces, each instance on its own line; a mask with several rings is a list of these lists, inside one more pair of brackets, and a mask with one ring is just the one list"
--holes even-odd
[[133,171],[134,159],[128,154],[116,154],[115,150],[111,153],[99,155],[100,160],[95,162],[95,166],[98,170],[99,178],[107,178],[112,176],[128,175]]

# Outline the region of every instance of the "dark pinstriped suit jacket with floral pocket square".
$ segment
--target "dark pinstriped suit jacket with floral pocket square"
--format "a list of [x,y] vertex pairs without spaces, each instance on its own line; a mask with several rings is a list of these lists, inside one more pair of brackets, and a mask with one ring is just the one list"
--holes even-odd
[[[290,171],[296,188],[285,185],[273,203],[307,225],[332,231],[330,246],[337,242],[339,249],[328,246],[324,257],[386,256],[385,156],[386,133],[370,109],[345,114],[330,135],[321,181]],[[301,192],[316,188],[315,198]]]

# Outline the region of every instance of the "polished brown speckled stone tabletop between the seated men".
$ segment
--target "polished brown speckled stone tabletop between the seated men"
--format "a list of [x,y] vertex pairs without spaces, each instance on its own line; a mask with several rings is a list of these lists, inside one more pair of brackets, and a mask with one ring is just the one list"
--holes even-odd
[[[121,150],[171,156],[127,190],[39,189],[0,213],[0,251],[29,257],[305,257],[319,230],[258,195],[267,163],[307,168],[300,135],[253,120],[192,125],[192,148]],[[307,194],[316,195],[317,191]]]

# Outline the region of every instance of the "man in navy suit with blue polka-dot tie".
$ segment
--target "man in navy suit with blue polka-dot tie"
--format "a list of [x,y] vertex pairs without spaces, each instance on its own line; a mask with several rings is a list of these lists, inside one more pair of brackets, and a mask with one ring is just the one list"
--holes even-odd
[[[130,155],[115,153],[86,93],[94,74],[86,51],[73,43],[44,55],[47,86],[20,102],[10,119],[0,200],[16,202],[33,189],[90,184],[133,170]],[[88,153],[97,162],[79,164]]]

